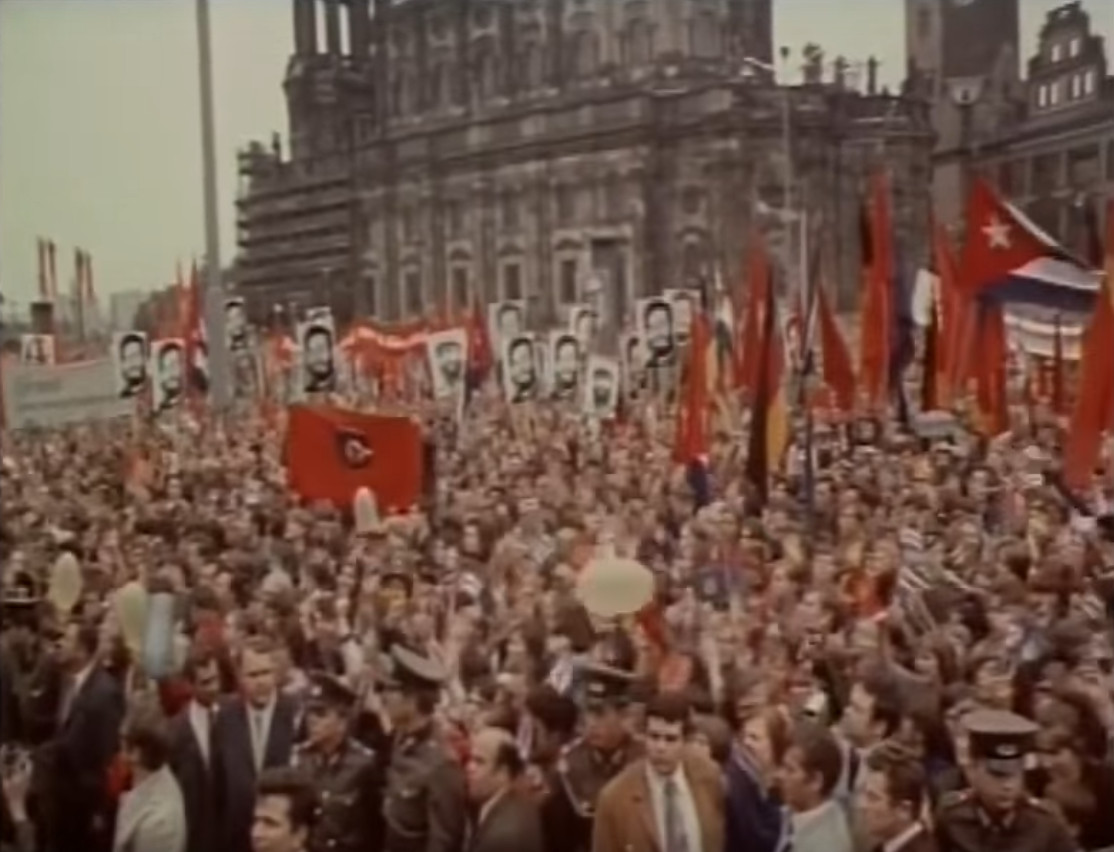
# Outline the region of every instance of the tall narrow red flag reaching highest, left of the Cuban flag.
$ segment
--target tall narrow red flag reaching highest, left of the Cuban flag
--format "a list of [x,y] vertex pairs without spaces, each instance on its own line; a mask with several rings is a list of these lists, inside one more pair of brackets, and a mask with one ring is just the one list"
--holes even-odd
[[893,336],[893,225],[885,175],[878,174],[871,180],[870,196],[860,215],[863,290],[859,384],[868,408],[878,410],[886,408],[889,398]]

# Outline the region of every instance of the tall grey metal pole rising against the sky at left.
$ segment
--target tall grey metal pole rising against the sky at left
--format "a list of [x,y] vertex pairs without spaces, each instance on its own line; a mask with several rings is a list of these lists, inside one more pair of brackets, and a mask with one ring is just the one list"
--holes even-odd
[[223,411],[232,403],[228,342],[224,330],[224,282],[221,280],[221,219],[216,194],[216,130],[213,119],[213,48],[208,0],[197,0],[197,79],[201,87],[202,178],[205,193],[205,342],[209,394]]

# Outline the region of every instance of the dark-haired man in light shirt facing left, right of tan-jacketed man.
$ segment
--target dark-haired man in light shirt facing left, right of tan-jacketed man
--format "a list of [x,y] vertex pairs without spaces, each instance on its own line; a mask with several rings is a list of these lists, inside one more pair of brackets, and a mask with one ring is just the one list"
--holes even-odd
[[847,814],[832,795],[842,763],[825,727],[808,722],[793,732],[780,775],[793,812],[793,852],[853,852]]

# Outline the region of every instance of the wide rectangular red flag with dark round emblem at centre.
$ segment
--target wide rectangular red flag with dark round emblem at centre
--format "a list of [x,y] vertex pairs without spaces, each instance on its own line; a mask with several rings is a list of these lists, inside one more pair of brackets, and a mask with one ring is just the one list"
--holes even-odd
[[381,511],[408,510],[421,496],[421,429],[410,418],[292,405],[286,468],[291,490],[305,500],[346,508],[368,488]]

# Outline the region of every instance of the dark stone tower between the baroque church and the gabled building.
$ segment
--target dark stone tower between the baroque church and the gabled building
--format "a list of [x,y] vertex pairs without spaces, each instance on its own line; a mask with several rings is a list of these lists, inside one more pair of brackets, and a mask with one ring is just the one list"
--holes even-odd
[[1019,115],[1019,0],[906,0],[906,55],[932,105],[937,213],[958,222],[979,141]]

